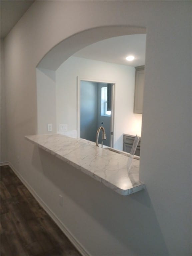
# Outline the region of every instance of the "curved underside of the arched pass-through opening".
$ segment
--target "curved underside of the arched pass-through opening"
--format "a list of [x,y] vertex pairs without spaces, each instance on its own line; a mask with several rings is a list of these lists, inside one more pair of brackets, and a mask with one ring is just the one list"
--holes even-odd
[[98,41],[123,35],[145,34],[146,28],[134,26],[103,26],[74,34],[55,47],[41,59],[37,68],[57,70],[58,67],[80,49]]

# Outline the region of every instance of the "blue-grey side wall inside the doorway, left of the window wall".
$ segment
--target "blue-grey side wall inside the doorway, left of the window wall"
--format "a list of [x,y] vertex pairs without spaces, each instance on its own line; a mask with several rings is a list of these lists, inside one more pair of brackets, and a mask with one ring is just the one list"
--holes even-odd
[[97,131],[98,84],[81,81],[80,138],[95,141]]

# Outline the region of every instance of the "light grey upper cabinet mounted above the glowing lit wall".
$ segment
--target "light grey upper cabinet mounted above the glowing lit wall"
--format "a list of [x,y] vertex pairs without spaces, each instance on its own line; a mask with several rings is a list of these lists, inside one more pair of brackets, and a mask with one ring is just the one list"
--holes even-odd
[[145,66],[135,67],[135,98],[134,98],[134,113],[143,113],[143,89]]

